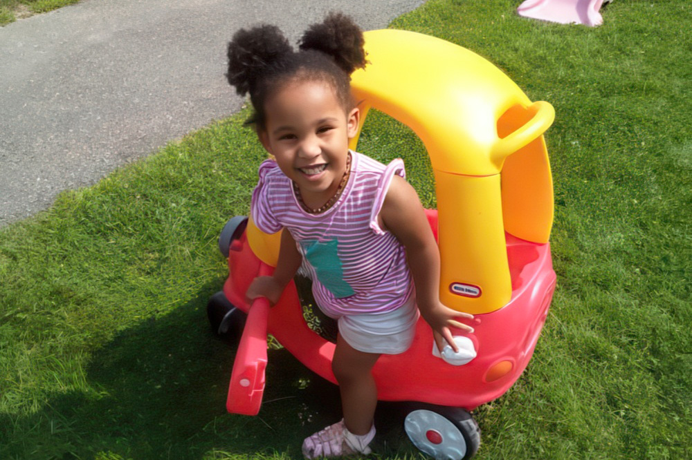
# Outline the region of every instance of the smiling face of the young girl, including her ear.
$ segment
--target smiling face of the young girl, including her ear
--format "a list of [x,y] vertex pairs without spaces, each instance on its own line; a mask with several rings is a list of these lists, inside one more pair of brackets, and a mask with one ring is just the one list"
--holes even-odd
[[348,143],[360,113],[349,113],[320,81],[290,82],[264,104],[260,141],[281,171],[298,185],[303,202],[318,208],[334,196],[346,170]]

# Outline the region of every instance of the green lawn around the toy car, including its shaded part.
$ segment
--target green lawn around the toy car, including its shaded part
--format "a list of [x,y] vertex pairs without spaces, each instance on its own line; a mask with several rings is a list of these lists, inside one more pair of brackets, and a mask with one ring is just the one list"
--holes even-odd
[[[527,371],[476,412],[477,458],[689,458],[692,7],[616,1],[586,28],[517,4],[431,0],[393,24],[471,48],[556,108],[558,287]],[[338,416],[334,387],[282,349],[260,416],[224,413],[233,349],[204,306],[226,276],[217,234],[264,157],[246,115],[0,230],[1,459],[300,458]],[[434,204],[415,136],[376,116],[361,139],[402,156]],[[381,409],[384,456],[415,456]]]

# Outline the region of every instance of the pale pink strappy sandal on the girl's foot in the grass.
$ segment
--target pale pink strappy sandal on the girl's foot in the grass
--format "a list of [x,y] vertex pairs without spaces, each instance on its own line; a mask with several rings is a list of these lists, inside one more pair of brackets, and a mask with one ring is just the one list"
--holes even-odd
[[372,452],[367,445],[375,437],[375,425],[372,425],[367,434],[353,434],[347,430],[343,419],[329,425],[322,431],[318,431],[303,441],[302,452],[306,459],[318,459],[320,457],[343,457],[345,455],[363,454]]

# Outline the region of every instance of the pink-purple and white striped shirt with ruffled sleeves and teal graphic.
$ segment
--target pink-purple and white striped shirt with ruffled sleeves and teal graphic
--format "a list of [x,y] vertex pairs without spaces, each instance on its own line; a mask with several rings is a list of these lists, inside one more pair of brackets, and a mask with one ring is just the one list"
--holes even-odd
[[266,233],[282,228],[291,236],[313,280],[320,309],[332,318],[385,313],[411,296],[406,251],[377,222],[394,174],[404,177],[402,160],[388,166],[351,151],[351,175],[339,200],[319,214],[305,212],[273,160],[260,165],[251,212]]

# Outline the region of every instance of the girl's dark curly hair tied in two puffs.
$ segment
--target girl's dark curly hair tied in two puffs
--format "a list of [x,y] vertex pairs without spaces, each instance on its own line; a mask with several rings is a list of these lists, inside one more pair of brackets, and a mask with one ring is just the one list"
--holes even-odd
[[295,51],[276,26],[241,29],[228,43],[228,83],[239,95],[250,93],[255,113],[246,124],[264,129],[264,102],[284,84],[321,81],[334,88],[344,111],[353,107],[351,77],[364,68],[363,31],[354,21],[331,12],[303,34]]

